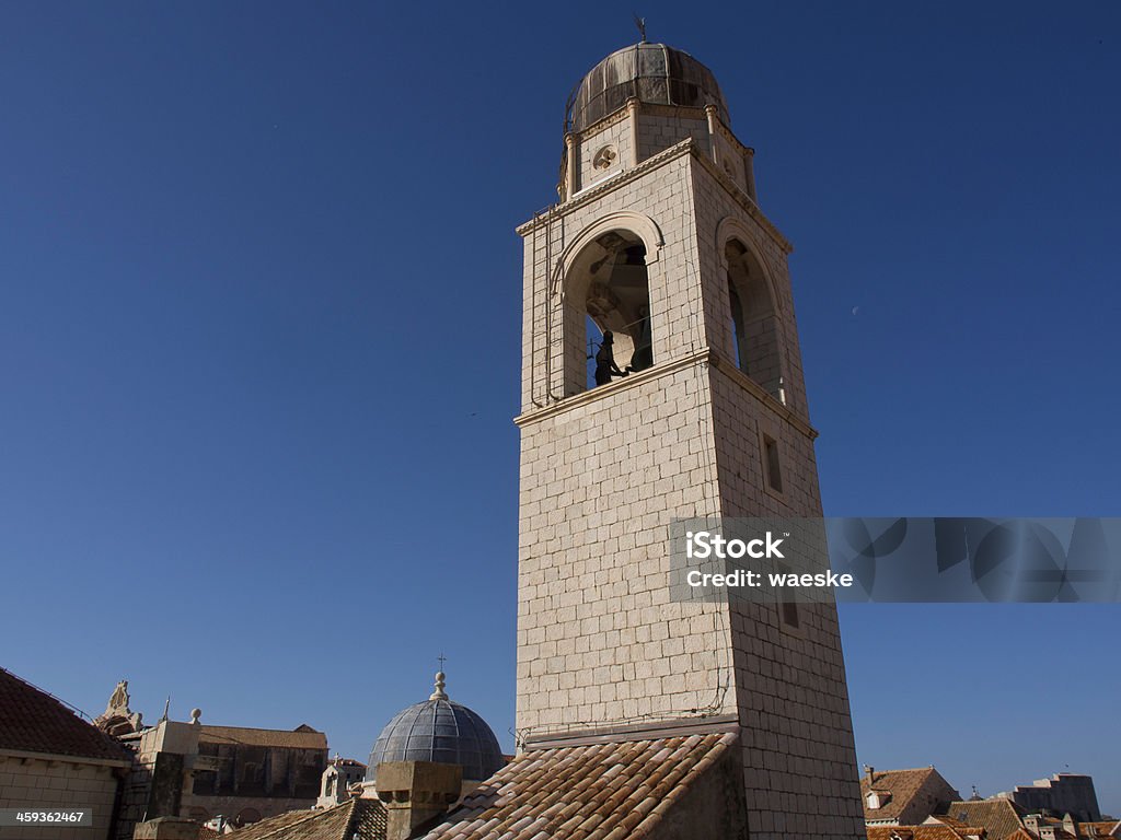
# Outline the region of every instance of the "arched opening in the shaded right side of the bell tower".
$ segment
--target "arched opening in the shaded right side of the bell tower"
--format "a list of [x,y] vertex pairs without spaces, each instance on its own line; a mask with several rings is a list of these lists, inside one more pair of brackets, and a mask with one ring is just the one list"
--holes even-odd
[[729,240],[724,259],[735,364],[785,402],[778,314],[770,283],[759,260],[739,240]]

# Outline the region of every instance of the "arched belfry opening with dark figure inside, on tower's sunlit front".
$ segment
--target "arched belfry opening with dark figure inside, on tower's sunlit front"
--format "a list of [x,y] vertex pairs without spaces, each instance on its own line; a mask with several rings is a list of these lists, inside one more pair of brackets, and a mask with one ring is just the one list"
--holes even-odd
[[573,260],[565,278],[566,395],[654,364],[646,256],[637,234],[614,230]]

